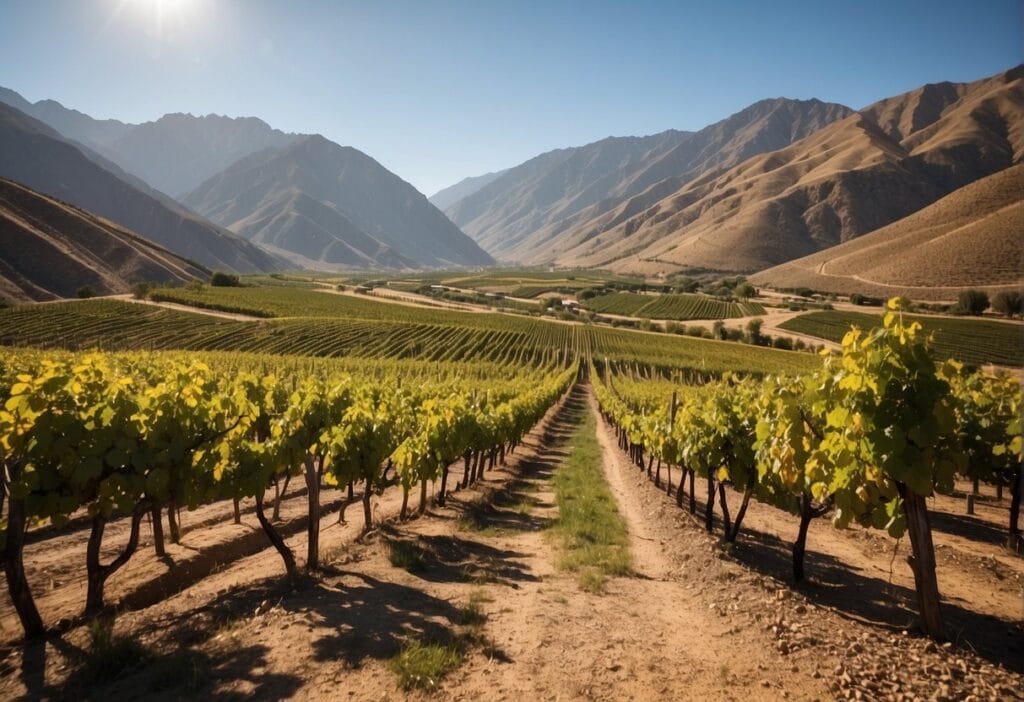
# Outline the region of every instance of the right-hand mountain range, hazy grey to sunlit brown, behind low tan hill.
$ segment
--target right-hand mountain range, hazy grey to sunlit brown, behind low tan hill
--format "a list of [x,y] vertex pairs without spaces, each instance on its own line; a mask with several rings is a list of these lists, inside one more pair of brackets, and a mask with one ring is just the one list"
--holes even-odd
[[1021,162],[1024,69],[861,111],[765,100],[699,132],[542,155],[449,206],[497,257],[753,272],[880,229]]

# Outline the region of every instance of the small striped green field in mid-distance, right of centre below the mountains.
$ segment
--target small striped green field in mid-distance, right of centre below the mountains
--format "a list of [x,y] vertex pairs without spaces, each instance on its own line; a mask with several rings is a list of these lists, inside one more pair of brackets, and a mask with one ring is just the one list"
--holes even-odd
[[724,302],[703,295],[609,293],[588,300],[587,309],[650,319],[729,319],[764,314],[756,302]]

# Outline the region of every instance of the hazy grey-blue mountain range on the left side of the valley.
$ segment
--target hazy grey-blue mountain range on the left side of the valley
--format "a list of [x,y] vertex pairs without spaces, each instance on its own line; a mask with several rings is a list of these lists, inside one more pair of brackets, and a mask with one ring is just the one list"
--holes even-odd
[[[361,151],[318,135],[286,134],[256,118],[217,115],[172,114],[140,125],[94,120],[53,100],[30,102],[5,88],[0,88],[0,102],[9,105],[4,106],[8,114],[22,114],[22,123],[37,118],[32,120],[36,131],[45,123],[47,136],[63,140],[108,174],[233,242],[253,260],[210,255],[203,251],[210,237],[188,227],[167,234],[167,227],[140,221],[137,207],[119,211],[123,196],[115,198],[117,204],[81,196],[58,182],[61,167],[56,163],[47,177],[36,174],[27,184],[210,267],[251,272],[493,263],[412,185]],[[16,159],[10,155],[0,175],[26,182],[28,166],[20,162],[30,153],[24,150],[28,135],[23,136],[23,151]],[[254,169],[263,177],[245,182]],[[109,176],[99,180],[110,184]],[[110,192],[105,185],[94,189]]]

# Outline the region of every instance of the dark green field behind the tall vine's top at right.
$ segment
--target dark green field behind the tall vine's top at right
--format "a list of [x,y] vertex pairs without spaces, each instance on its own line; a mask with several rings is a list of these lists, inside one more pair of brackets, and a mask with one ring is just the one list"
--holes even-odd
[[[968,363],[1024,365],[1024,325],[986,319],[924,317],[908,315],[933,335],[936,352],[944,358]],[[862,312],[825,310],[801,314],[779,324],[781,328],[834,342],[853,325],[870,328],[882,323],[882,316]]]

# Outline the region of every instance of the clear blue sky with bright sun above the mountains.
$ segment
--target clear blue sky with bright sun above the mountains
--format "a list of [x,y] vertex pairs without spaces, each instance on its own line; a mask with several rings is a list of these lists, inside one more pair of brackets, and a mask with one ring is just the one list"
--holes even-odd
[[764,97],[861,107],[1022,61],[1022,2],[0,0],[0,85],[127,122],[255,115],[427,194]]

